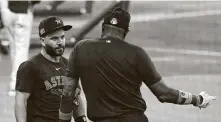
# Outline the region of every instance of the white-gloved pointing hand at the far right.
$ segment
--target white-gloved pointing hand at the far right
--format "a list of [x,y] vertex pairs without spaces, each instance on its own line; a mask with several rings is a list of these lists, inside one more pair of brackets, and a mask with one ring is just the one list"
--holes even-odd
[[206,92],[202,91],[199,96],[202,98],[202,100],[198,99],[197,107],[201,108],[207,108],[213,100],[216,100],[216,96],[210,96]]

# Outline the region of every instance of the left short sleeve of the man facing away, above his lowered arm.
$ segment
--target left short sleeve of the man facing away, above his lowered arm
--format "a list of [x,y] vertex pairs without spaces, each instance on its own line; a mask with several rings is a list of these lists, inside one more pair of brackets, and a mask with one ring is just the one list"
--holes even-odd
[[77,63],[77,45],[70,54],[67,65],[67,77],[79,78],[79,68]]

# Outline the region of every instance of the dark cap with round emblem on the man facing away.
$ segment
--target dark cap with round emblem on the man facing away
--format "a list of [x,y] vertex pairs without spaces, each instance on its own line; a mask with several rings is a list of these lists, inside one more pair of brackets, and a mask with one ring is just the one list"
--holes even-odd
[[109,11],[106,17],[104,17],[103,24],[113,25],[124,30],[129,30],[130,14],[122,8],[114,8]]

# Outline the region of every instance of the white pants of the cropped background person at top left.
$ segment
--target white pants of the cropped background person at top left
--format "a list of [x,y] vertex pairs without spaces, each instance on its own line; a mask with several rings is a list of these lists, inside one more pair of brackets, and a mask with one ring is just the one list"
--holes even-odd
[[33,14],[14,13],[8,8],[2,9],[3,23],[7,28],[7,37],[10,41],[10,56],[12,62],[11,84],[15,88],[16,74],[20,64],[28,59]]

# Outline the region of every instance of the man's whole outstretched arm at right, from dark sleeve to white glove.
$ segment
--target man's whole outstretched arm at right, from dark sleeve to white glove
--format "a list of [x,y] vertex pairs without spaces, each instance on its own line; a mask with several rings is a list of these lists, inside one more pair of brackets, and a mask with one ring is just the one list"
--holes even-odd
[[136,66],[141,80],[150,88],[160,102],[181,105],[193,104],[200,108],[206,108],[212,100],[216,99],[216,97],[210,96],[205,92],[193,95],[168,87],[156,71],[150,57],[142,48],[137,50]]

